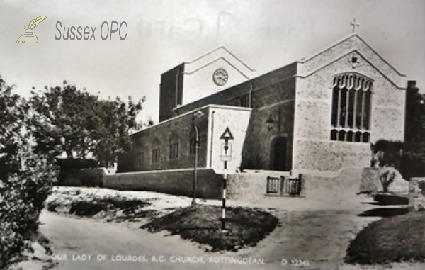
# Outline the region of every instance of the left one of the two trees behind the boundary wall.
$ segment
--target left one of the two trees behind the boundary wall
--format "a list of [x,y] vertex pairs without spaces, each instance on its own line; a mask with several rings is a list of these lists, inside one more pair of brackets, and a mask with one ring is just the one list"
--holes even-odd
[[38,150],[68,158],[85,157],[94,142],[89,134],[96,128],[97,116],[91,115],[96,96],[77,90],[75,86],[45,87],[45,91],[31,91],[31,120]]

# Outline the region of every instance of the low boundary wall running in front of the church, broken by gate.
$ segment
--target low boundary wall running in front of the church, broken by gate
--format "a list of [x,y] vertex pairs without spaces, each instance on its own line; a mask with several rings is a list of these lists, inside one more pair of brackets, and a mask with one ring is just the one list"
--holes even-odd
[[[361,190],[363,169],[344,169],[335,177],[302,174],[302,196],[356,196]],[[265,198],[267,176],[289,176],[285,171],[258,171],[227,174],[227,198],[238,201],[257,201]],[[82,169],[69,174],[68,186],[103,186],[125,191],[154,191],[172,195],[193,194],[193,169],[135,171],[108,174],[106,169]],[[220,199],[222,175],[212,169],[198,169],[197,198]]]

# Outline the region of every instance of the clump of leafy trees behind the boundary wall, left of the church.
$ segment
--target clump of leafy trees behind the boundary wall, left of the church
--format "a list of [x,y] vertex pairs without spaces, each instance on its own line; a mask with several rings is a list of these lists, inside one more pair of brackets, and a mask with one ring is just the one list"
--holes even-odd
[[106,167],[130,147],[128,133],[137,127],[136,117],[145,100],[102,100],[66,81],[62,87],[46,86],[44,91],[32,94],[32,126],[38,150],[56,155],[65,152],[67,158],[85,158],[91,153]]

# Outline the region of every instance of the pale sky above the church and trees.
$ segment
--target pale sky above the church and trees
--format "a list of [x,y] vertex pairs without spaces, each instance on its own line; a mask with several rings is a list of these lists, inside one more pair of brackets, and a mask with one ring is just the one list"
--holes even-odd
[[[42,15],[38,44],[17,44]],[[160,76],[181,62],[225,46],[261,75],[350,35],[353,18],[358,35],[424,93],[423,0],[0,0],[0,75],[22,96],[64,80],[103,98],[145,96],[140,120],[157,123]],[[56,40],[58,21],[61,33],[96,27],[96,40]],[[104,21],[125,21],[125,40],[102,40]]]

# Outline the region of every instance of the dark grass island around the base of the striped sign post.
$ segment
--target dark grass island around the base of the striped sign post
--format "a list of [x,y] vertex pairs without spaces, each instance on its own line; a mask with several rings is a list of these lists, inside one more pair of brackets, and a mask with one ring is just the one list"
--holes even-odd
[[171,235],[180,235],[217,252],[237,252],[243,247],[253,247],[268,235],[278,224],[270,213],[252,208],[227,208],[226,230],[221,230],[220,206],[197,205],[181,208],[142,225],[149,232],[167,230]]

